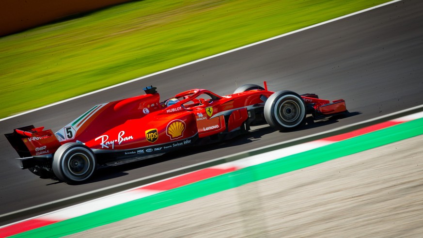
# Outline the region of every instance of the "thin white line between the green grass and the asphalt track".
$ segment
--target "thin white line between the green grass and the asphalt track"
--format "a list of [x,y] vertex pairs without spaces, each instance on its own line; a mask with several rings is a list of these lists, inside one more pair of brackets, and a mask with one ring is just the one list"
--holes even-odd
[[102,92],[102,91],[106,91],[106,90],[109,90],[109,89],[112,89],[112,88],[116,88],[116,87],[119,87],[119,86],[122,86],[122,85],[125,85],[125,84],[128,84],[128,83],[131,83],[131,82],[135,82],[135,81],[138,81],[138,80],[141,80],[141,79],[146,79],[146,78],[149,78],[149,77],[152,77],[152,76],[156,76],[156,75],[159,75],[159,74],[162,74],[162,73],[165,73],[165,72],[169,72],[171,70],[175,70],[175,69],[178,69],[178,68],[182,68],[182,67],[185,67],[185,66],[194,64],[194,63],[199,63],[199,62],[206,61],[206,60],[209,60],[209,59],[212,59],[212,58],[216,58],[216,57],[219,57],[221,55],[229,54],[229,53],[232,53],[232,52],[241,50],[241,49],[245,49],[245,48],[249,48],[249,47],[252,47],[252,46],[259,45],[259,44],[263,44],[265,42],[272,41],[272,40],[275,40],[275,39],[279,39],[279,38],[285,37],[287,35],[292,35],[292,34],[295,34],[295,33],[298,33],[298,32],[306,31],[306,30],[312,29],[314,27],[322,26],[322,25],[325,25],[325,24],[328,24],[328,23],[331,23],[331,22],[334,22],[334,21],[338,21],[338,20],[341,20],[341,19],[344,19],[344,18],[347,18],[347,17],[350,17],[350,16],[354,16],[354,15],[358,15],[358,14],[361,14],[361,13],[364,13],[364,12],[367,12],[367,11],[371,11],[371,10],[374,10],[376,8],[383,7],[383,6],[386,6],[386,5],[389,5],[389,4],[398,2],[398,1],[402,1],[402,0],[389,1],[389,2],[386,2],[386,3],[380,4],[380,5],[374,6],[374,7],[366,8],[364,10],[361,10],[361,11],[358,11],[358,12],[355,12],[355,13],[351,13],[351,14],[348,14],[348,15],[345,15],[345,16],[340,16],[340,17],[337,17],[337,18],[333,18],[331,20],[327,20],[327,21],[324,21],[324,22],[321,22],[321,23],[314,24],[312,26],[301,28],[301,29],[296,30],[296,31],[293,31],[293,32],[284,33],[282,35],[274,36],[274,37],[268,38],[266,40],[262,40],[262,41],[258,41],[256,43],[252,43],[250,45],[246,45],[246,46],[243,46],[243,47],[231,49],[231,50],[228,50],[228,51],[225,51],[225,52],[216,54],[216,55],[205,57],[203,59],[199,59],[199,60],[192,61],[192,62],[189,62],[189,63],[184,63],[184,64],[181,64],[181,65],[178,65],[178,66],[169,68],[169,69],[158,71],[158,72],[153,73],[153,74],[142,76],[140,78],[131,79],[131,80],[128,80],[128,81],[125,81],[125,82],[121,82],[121,83],[118,83],[118,84],[115,84],[115,85],[106,87],[106,88],[95,90],[95,91],[93,91],[91,93],[86,93],[86,94],[79,95],[79,96],[76,96],[76,97],[68,98],[68,99],[65,99],[65,100],[62,100],[62,101],[59,101],[59,102],[55,102],[55,103],[52,103],[52,104],[49,104],[49,105],[46,105],[46,106],[43,106],[43,107],[40,107],[40,108],[32,109],[30,111],[24,111],[24,112],[21,112],[21,113],[16,114],[16,115],[12,115],[12,116],[9,116],[9,117],[2,118],[2,119],[0,119],[0,122],[1,121],[5,121],[5,120],[8,120],[8,119],[11,119],[11,118],[14,118],[14,117],[18,117],[18,116],[21,116],[21,115],[25,115],[25,114],[28,114],[28,113],[31,113],[31,112],[34,112],[34,111],[39,111],[39,110],[42,110],[42,109],[45,109],[45,108],[56,106],[56,105],[59,105],[59,104],[65,103],[65,102],[69,102],[69,101],[72,101],[72,100],[75,100],[75,99],[78,99],[78,98],[81,98],[81,97],[84,97],[84,96],[88,96],[88,95],[96,94],[96,93],[99,93],[99,92]]

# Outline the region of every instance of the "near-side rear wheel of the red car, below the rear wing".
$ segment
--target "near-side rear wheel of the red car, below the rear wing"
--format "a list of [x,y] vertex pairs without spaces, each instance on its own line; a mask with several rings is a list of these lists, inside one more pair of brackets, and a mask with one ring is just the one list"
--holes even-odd
[[93,175],[95,156],[93,151],[80,143],[66,143],[59,147],[53,157],[54,175],[63,182],[83,182]]

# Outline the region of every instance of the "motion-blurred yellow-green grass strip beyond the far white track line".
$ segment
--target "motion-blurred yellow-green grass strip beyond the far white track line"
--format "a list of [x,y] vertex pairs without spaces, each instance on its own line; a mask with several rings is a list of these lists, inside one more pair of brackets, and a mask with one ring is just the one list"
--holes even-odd
[[143,0],[0,38],[0,118],[388,0]]

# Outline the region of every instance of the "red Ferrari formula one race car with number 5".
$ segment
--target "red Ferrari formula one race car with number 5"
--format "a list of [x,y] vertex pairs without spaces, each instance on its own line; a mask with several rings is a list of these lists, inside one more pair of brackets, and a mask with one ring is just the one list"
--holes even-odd
[[267,123],[283,131],[299,127],[307,114],[316,120],[346,111],[343,99],[330,102],[314,94],[265,88],[247,84],[226,96],[191,89],[160,102],[156,88],[149,86],[146,95],[94,106],[56,133],[27,126],[5,136],[22,169],[78,183],[101,165],[233,138],[251,125]]

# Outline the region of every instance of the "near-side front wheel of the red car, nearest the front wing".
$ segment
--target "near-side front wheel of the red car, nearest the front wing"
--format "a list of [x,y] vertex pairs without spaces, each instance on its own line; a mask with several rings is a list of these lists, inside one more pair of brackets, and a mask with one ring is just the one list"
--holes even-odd
[[266,100],[266,122],[280,131],[287,131],[303,124],[307,115],[301,96],[292,91],[279,91]]

